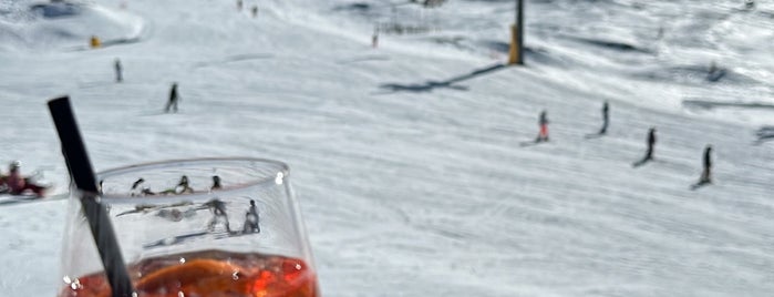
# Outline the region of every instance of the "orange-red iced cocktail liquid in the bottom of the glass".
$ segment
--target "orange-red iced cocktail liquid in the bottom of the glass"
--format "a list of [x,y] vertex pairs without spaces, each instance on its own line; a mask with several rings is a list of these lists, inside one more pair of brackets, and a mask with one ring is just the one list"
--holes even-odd
[[[190,260],[187,260],[190,258]],[[301,259],[224,252],[149,258],[130,266],[138,297],[317,297],[314,272]],[[111,296],[104,274],[71,279],[61,297]]]

